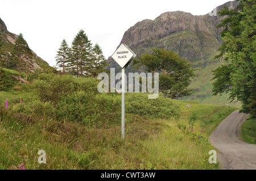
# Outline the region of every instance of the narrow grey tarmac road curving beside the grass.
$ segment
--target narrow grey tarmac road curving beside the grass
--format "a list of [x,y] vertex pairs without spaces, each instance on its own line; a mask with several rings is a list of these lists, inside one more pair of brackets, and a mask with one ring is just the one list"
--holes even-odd
[[256,145],[240,137],[241,124],[249,115],[232,112],[210,135],[210,143],[219,151],[217,161],[223,170],[256,170]]

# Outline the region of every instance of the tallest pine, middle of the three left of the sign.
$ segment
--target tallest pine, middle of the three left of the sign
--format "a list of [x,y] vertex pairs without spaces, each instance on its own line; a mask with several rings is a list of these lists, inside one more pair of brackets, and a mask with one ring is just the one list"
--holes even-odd
[[93,68],[92,43],[84,30],[77,33],[72,42],[69,56],[69,73],[77,76],[88,76]]

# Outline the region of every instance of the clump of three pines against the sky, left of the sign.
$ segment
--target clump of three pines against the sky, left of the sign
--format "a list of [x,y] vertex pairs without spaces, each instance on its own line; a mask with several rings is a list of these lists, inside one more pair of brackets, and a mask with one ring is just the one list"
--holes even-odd
[[77,33],[71,48],[65,40],[62,41],[56,61],[63,73],[76,77],[97,77],[98,73],[106,71],[104,67],[107,65],[100,45],[93,47],[84,30]]

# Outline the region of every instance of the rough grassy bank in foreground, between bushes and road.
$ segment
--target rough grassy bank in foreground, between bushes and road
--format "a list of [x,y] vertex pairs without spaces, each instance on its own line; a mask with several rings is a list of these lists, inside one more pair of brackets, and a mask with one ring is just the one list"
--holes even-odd
[[[208,162],[213,149],[208,136],[234,108],[174,102],[181,114],[175,119],[127,113],[124,141],[120,125],[88,128],[47,116],[35,120],[2,107],[0,169],[18,169],[21,163],[26,169],[218,169]],[[39,150],[46,151],[46,164],[38,163]]]

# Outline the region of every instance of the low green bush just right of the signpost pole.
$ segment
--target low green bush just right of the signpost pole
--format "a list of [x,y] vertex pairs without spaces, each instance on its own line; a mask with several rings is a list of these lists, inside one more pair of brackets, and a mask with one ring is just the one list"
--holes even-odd
[[148,99],[144,93],[126,94],[125,106],[127,113],[133,113],[147,118],[171,119],[179,117],[179,106],[172,102],[170,98],[159,95],[157,99]]

